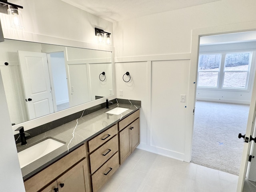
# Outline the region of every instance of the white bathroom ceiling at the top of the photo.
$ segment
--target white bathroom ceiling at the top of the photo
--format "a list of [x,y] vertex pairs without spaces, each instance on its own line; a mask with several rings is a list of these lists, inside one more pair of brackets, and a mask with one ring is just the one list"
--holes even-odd
[[219,0],[62,0],[110,22],[182,9]]

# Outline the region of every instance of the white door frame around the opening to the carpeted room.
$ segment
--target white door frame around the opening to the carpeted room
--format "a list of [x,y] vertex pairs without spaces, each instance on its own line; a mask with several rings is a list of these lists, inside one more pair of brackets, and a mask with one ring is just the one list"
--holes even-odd
[[[192,40],[191,40],[191,56],[190,56],[190,70],[189,70],[189,84],[188,84],[188,106],[187,106],[187,116],[186,116],[186,140],[185,140],[185,156],[184,161],[190,162],[192,156],[192,138],[194,129],[194,108],[196,102],[196,81],[198,72],[198,55],[199,55],[199,43],[201,36],[210,36],[217,34],[228,34],[235,32],[246,32],[256,30],[256,22],[245,22],[238,24],[228,24],[224,26],[212,26],[207,28],[198,28],[192,30]],[[251,111],[251,110],[250,110]],[[250,116],[250,112],[249,112]],[[245,150],[245,149],[244,149]],[[243,153],[242,164],[244,163]],[[242,166],[241,166],[242,167]],[[240,169],[240,175],[245,174],[245,170]],[[240,176],[241,177],[241,176]],[[239,179],[238,181],[238,191],[242,188],[243,181]]]

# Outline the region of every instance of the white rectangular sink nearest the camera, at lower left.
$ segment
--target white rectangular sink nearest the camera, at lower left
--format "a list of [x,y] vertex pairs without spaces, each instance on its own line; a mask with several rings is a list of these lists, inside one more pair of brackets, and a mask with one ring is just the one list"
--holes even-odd
[[25,150],[22,150],[21,152],[18,152],[20,168],[34,162],[35,160],[45,156],[63,145],[64,143],[62,142],[48,138]]

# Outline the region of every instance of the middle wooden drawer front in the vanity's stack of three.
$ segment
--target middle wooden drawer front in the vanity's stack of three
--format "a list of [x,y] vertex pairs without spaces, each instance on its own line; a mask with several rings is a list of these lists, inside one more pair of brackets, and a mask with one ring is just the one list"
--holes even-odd
[[118,136],[90,154],[91,173],[94,173],[102,164],[104,164],[113,154],[118,151]]

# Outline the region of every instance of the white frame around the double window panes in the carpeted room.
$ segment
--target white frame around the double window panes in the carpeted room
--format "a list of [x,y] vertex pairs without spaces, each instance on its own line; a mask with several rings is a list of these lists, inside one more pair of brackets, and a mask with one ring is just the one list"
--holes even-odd
[[[248,64],[248,70],[247,70],[247,76],[246,76],[246,86],[245,88],[226,88],[223,87],[224,83],[224,74],[225,72],[233,72],[233,71],[224,71],[225,67],[225,60],[226,60],[226,54],[234,54],[234,53],[250,53],[250,60]],[[219,72],[218,72],[218,82],[217,82],[217,87],[204,87],[204,86],[198,86],[198,79],[199,79],[199,57],[200,55],[209,55],[209,54],[221,54],[221,63],[219,67]],[[198,68],[197,68],[197,84],[196,88],[197,89],[203,89],[203,90],[225,90],[225,91],[242,91],[242,92],[250,92],[251,84],[252,84],[252,77],[254,76],[254,68],[255,64],[253,62],[255,61],[256,58],[256,50],[252,49],[246,49],[246,50],[223,50],[223,51],[206,51],[206,52],[199,52],[198,54]],[[215,71],[217,72],[217,71]],[[246,71],[234,71],[234,72],[246,72]]]

